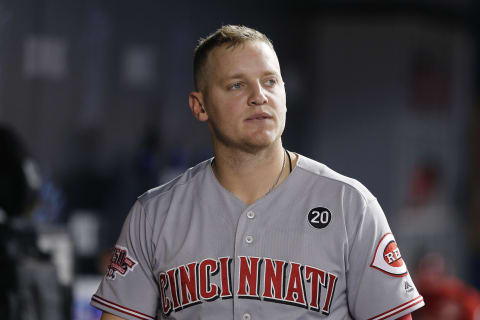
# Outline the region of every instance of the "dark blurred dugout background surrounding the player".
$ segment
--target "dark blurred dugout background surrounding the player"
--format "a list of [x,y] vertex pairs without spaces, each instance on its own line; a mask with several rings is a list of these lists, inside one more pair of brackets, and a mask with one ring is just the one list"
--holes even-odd
[[[0,0],[0,310],[98,317],[90,296],[136,197],[212,156],[188,108],[193,49],[244,24],[281,62],[284,145],[379,199],[432,319],[438,299],[444,319],[473,319],[479,16],[468,0]],[[14,316],[22,301],[42,312]]]

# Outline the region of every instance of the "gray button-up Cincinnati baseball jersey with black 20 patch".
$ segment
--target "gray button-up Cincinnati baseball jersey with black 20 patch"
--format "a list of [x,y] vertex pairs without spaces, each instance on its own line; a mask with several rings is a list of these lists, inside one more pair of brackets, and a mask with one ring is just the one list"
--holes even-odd
[[211,162],[138,198],[93,306],[145,320],[380,320],[424,305],[359,182],[299,155],[246,206]]

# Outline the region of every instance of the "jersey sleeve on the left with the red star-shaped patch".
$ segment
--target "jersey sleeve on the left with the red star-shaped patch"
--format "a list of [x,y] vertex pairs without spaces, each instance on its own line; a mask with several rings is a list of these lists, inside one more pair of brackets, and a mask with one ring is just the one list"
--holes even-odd
[[152,272],[151,237],[152,226],[137,201],[125,220],[92,306],[124,319],[155,319],[159,292]]

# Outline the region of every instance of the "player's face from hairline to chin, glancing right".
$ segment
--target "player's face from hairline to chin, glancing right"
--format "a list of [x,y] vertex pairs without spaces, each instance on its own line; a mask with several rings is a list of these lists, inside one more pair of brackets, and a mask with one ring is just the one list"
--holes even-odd
[[214,143],[257,151],[278,141],[285,128],[280,65],[264,42],[214,49],[208,57],[202,97]]

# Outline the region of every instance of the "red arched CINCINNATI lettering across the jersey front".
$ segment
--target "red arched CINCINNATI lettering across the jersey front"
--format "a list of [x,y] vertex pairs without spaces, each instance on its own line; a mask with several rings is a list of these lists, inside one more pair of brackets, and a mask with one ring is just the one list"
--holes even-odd
[[232,299],[233,295],[330,313],[338,280],[333,273],[296,262],[239,256],[235,291],[231,263],[230,257],[208,258],[161,272],[158,282],[163,314],[218,298]]

